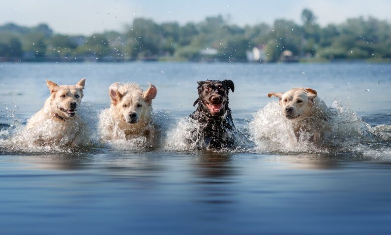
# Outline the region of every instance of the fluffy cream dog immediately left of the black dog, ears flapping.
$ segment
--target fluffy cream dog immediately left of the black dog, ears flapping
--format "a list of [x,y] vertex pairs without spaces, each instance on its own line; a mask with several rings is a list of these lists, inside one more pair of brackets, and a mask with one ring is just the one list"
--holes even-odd
[[110,85],[110,109],[104,110],[100,116],[101,138],[116,140],[145,136],[151,141],[154,129],[150,118],[156,94],[157,89],[152,84],[145,92],[135,83]]

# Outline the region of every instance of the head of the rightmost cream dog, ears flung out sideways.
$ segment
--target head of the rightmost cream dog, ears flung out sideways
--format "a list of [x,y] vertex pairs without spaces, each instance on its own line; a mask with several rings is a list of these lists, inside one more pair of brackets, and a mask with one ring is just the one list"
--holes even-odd
[[268,97],[271,96],[280,99],[279,104],[286,118],[300,121],[311,116],[318,93],[311,88],[293,88],[285,93],[271,92]]

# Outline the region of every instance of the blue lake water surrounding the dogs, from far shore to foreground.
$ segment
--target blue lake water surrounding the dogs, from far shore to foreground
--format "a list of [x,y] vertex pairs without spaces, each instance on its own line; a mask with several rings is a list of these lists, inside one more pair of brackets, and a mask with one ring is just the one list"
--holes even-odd
[[[95,136],[74,152],[9,142],[49,96],[46,79],[83,77],[94,135],[111,83],[153,83],[165,144],[118,148]],[[206,79],[235,82],[234,121],[255,147],[177,144]],[[390,83],[389,64],[0,64],[0,233],[391,234]],[[335,111],[333,147],[269,138],[286,132],[277,114],[273,125],[263,119],[278,113],[267,94],[292,87],[315,89]]]

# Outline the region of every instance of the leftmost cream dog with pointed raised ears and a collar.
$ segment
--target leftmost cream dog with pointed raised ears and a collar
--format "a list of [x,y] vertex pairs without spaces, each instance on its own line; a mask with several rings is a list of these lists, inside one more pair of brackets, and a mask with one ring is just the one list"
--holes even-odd
[[40,145],[84,146],[90,144],[87,126],[77,113],[86,79],[76,85],[57,85],[46,80],[50,97],[27,123],[26,131]]

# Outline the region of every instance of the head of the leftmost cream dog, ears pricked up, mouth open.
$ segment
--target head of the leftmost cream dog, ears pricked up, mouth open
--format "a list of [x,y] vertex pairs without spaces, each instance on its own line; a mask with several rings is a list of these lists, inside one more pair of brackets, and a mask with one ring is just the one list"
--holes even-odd
[[50,90],[51,109],[61,118],[71,118],[76,114],[82,98],[86,79],[83,78],[76,85],[57,85],[55,82],[46,80]]

